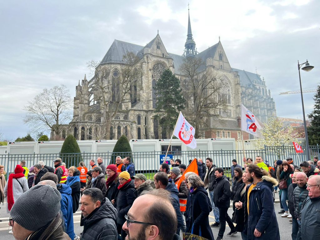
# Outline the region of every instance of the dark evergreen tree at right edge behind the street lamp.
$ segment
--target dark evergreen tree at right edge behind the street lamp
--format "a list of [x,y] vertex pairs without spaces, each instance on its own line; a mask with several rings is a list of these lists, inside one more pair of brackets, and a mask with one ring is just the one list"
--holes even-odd
[[310,126],[307,129],[309,145],[320,144],[320,85],[318,86],[313,100],[315,100],[314,109],[308,115],[309,119],[311,120]]

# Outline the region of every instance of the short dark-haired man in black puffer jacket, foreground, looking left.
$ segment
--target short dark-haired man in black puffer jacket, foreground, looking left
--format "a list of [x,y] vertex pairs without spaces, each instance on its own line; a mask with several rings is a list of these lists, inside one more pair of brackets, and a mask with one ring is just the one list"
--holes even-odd
[[84,216],[83,240],[116,240],[117,210],[98,188],[83,191],[80,210]]

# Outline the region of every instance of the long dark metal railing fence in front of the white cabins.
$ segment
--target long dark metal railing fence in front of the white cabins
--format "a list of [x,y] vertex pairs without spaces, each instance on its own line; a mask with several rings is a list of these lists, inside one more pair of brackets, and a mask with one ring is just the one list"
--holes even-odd
[[[318,156],[320,158],[320,148],[319,146],[309,147],[311,156]],[[26,162],[26,166],[29,168],[39,161],[44,161],[48,166],[53,166],[53,160],[57,157],[61,157],[63,162],[69,166],[78,166],[80,161],[83,161],[85,165],[89,168],[89,162],[91,159],[96,160],[99,156],[103,158],[104,164],[107,166],[110,163],[114,163],[116,156],[131,156],[132,162],[135,164],[135,169],[137,172],[142,173],[154,173],[159,169],[161,163],[160,155],[164,155],[165,152],[153,151],[153,152],[104,152],[104,153],[70,153],[70,154],[3,154],[0,155],[0,164],[5,166],[6,172],[13,172],[14,168],[21,161]],[[236,159],[238,164],[243,166],[242,158],[243,156],[252,157],[261,156],[264,160],[267,160],[270,165],[273,165],[274,161],[278,159],[285,159],[288,156],[293,158],[295,164],[299,164],[302,161],[307,160],[306,149],[304,153],[297,154],[293,146],[265,146],[264,149],[259,150],[218,150],[218,151],[173,151],[169,152],[172,158],[181,160],[181,163],[188,165],[189,161],[194,158],[206,159],[211,157],[213,164],[216,166],[229,169],[233,159]],[[204,160],[205,161],[205,160]]]

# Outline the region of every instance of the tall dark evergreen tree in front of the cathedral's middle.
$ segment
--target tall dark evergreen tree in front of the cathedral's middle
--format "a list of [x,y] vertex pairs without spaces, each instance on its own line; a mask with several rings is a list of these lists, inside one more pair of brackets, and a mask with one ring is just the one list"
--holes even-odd
[[163,131],[173,131],[179,112],[184,109],[185,99],[182,97],[180,80],[171,70],[166,69],[155,86],[157,95],[155,118]]

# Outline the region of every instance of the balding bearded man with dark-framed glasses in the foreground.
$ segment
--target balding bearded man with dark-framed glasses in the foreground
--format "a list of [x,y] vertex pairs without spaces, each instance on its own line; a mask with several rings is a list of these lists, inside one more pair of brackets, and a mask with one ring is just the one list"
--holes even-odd
[[138,197],[122,226],[128,240],[180,240],[180,236],[175,234],[177,216],[169,199],[170,194],[164,189]]

